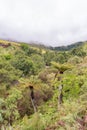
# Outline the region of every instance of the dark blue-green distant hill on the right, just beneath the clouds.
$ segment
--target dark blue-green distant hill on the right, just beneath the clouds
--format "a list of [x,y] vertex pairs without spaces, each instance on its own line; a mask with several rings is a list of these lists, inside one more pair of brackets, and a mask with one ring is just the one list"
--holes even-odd
[[69,51],[73,48],[77,48],[79,46],[82,46],[84,43],[85,42],[77,42],[77,43],[73,43],[73,44],[67,45],[67,46],[51,47],[50,49],[57,50],[57,51]]

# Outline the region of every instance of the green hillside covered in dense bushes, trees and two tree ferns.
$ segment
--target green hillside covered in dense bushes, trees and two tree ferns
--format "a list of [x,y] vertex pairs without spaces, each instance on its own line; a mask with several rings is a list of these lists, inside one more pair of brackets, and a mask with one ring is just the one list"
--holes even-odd
[[86,130],[87,44],[67,51],[0,40],[0,130]]

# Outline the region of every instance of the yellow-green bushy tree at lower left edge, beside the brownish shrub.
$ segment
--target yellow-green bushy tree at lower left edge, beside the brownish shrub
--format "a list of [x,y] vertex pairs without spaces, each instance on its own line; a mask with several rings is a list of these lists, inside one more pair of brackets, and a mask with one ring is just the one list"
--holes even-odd
[[12,123],[20,117],[17,108],[17,101],[20,98],[22,98],[21,92],[16,88],[13,88],[6,99],[0,99],[0,116],[2,124],[12,125]]

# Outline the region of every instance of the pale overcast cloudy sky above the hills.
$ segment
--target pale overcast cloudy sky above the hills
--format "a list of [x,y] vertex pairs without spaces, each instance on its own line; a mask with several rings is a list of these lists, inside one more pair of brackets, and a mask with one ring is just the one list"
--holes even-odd
[[60,46],[87,40],[87,0],[0,0],[0,38]]

